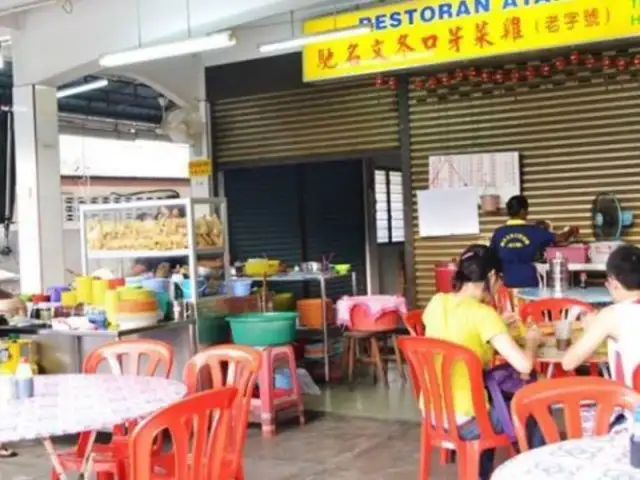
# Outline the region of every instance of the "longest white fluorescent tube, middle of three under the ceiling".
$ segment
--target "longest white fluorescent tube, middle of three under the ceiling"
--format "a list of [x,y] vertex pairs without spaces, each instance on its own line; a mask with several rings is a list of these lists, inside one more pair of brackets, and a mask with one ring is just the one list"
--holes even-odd
[[124,52],[109,53],[100,59],[102,67],[119,67],[134,63],[150,62],[161,58],[178,57],[192,53],[206,52],[217,48],[232,47],[236,44],[233,32],[214,33],[206,37],[189,38],[177,42],[163,43],[151,47],[141,47]]

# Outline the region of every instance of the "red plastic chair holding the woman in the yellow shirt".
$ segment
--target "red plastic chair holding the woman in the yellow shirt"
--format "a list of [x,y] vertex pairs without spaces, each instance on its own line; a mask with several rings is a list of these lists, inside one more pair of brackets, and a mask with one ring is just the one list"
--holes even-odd
[[[506,435],[491,426],[486,404],[482,363],[471,350],[443,340],[401,337],[398,344],[409,365],[411,381],[417,385],[424,403],[420,434],[420,480],[427,480],[431,469],[431,449],[457,452],[458,478],[477,480],[480,454],[487,449],[509,448]],[[469,374],[474,416],[480,438],[462,440],[458,433],[451,388],[452,367],[463,363]],[[426,412],[426,413],[425,413]],[[429,421],[431,420],[431,421]]]

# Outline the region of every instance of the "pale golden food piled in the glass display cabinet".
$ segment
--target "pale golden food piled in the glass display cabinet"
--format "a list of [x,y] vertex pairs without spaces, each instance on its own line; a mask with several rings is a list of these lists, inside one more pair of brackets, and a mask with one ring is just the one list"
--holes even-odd
[[[166,210],[166,209],[165,209]],[[101,220],[87,223],[89,250],[180,250],[188,248],[187,220],[177,211],[161,210],[153,218]],[[194,222],[196,246],[224,246],[224,230],[217,215],[205,215]]]

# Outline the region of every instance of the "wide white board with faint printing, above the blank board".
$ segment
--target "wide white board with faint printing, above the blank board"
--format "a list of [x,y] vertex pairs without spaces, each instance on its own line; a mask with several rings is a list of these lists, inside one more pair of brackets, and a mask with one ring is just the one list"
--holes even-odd
[[478,197],[497,194],[504,206],[509,198],[521,192],[520,154],[494,152],[430,156],[429,188],[460,187],[477,188]]

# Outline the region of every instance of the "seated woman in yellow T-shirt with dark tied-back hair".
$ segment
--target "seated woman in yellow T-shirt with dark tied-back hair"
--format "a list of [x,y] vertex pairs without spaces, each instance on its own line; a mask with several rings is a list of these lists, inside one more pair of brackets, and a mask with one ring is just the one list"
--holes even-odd
[[[482,251],[474,246],[460,257],[454,277],[456,292],[437,294],[424,311],[425,335],[469,348],[485,366],[490,365],[495,349],[518,372],[529,374],[534,366],[540,332],[535,326],[527,332],[523,351],[509,335],[507,326],[496,310],[482,302],[494,269],[494,265],[488,261],[490,251],[488,247],[485,249]],[[460,436],[466,440],[477,439],[479,431],[473,417],[469,376],[462,365],[454,367],[452,375],[453,403],[459,419]],[[490,409],[490,418],[495,431],[502,433],[503,425],[493,409]],[[530,437],[530,445],[535,447],[542,444],[539,431],[530,432]],[[493,458],[493,451],[483,452],[480,458],[482,479],[491,476]]]

